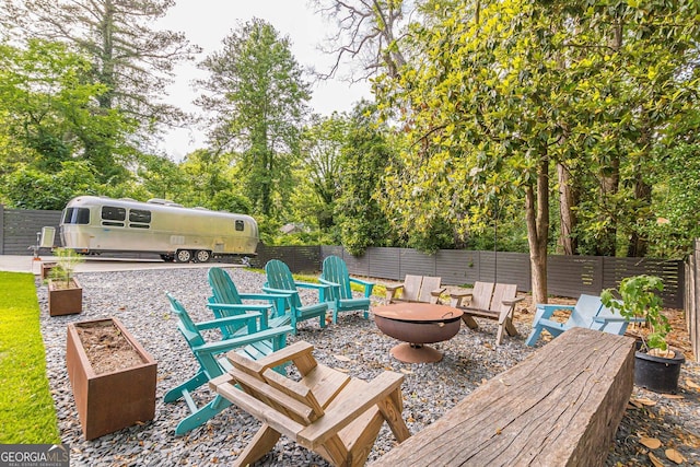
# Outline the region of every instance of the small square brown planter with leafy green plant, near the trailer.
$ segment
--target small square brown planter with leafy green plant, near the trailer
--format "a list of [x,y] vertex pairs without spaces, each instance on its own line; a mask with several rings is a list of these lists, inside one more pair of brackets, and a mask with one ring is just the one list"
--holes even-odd
[[83,311],[83,289],[73,277],[82,256],[70,248],[56,248],[56,266],[48,280],[48,313],[50,316],[72,315]]

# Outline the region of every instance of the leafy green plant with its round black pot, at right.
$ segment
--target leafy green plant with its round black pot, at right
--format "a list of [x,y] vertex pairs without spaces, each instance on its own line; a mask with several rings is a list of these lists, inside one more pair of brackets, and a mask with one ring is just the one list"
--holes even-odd
[[656,276],[633,276],[622,279],[617,291],[604,290],[600,300],[629,320],[643,319],[650,328],[638,341],[634,384],[656,393],[676,393],[680,365],[686,360],[682,352],[672,349],[666,340],[670,324],[662,313],[658,293],[663,290],[664,283]]

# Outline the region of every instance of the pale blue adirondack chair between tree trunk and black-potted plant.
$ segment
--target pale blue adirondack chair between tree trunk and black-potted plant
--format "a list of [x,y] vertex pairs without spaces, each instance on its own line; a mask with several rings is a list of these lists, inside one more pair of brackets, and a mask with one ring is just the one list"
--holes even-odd
[[[550,319],[557,310],[569,311],[569,319],[564,323]],[[534,346],[542,329],[547,329],[553,337],[572,327],[585,327],[621,336],[630,322],[639,322],[639,319],[627,319],[616,315],[611,310],[603,306],[599,296],[582,294],[575,305],[538,304],[535,319],[533,319],[533,331],[525,343]]]

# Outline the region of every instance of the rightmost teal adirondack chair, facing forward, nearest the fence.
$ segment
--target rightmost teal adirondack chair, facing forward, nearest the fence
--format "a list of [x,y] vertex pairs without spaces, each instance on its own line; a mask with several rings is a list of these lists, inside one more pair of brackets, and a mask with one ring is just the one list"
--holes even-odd
[[[369,318],[370,296],[372,295],[374,283],[351,278],[346,261],[337,256],[329,256],[324,259],[319,280],[320,283],[330,285],[331,299],[334,300],[334,324],[338,320],[338,313],[340,312],[364,311],[364,318]],[[364,287],[363,297],[352,296],[352,283]]]

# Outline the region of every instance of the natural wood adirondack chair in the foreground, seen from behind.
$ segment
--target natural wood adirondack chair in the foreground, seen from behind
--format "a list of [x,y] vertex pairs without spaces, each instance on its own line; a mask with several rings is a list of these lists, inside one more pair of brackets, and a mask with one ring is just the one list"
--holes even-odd
[[[351,378],[318,364],[312,351],[300,341],[257,362],[229,353],[233,369],[209,385],[262,422],[234,465],[253,465],[282,434],[336,466],[364,465],[385,420],[399,443],[410,436],[401,418],[404,375]],[[284,362],[296,366],[300,381],[270,370]]]

